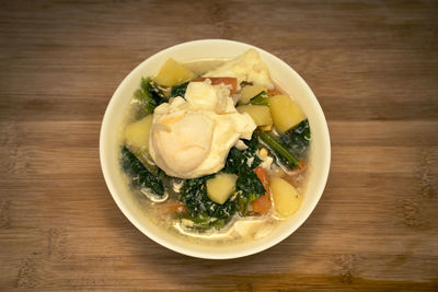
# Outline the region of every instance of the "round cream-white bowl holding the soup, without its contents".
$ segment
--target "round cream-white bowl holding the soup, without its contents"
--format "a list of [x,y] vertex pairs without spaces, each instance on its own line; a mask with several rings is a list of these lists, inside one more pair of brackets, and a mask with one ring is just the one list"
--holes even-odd
[[[132,93],[139,87],[141,77],[153,77],[161,65],[170,57],[177,61],[231,59],[250,48],[258,50],[269,68],[272,79],[303,109],[309,119],[312,142],[310,171],[304,187],[303,202],[298,212],[275,229],[269,235],[242,244],[208,246],[184,241],[162,231],[149,222],[140,208],[126,194],[126,182],[119,175],[117,161],[117,129],[123,114],[129,105]],[[152,241],[177,253],[210,259],[238,258],[269,248],[293,233],[310,215],[324,190],[328,176],[331,148],[327,124],[320,104],[304,80],[286,62],[257,47],[224,39],[203,39],[180,44],[151,56],[137,66],[120,83],[114,93],[103,118],[100,137],[102,172],[106,185],[122,212],[128,220]]]

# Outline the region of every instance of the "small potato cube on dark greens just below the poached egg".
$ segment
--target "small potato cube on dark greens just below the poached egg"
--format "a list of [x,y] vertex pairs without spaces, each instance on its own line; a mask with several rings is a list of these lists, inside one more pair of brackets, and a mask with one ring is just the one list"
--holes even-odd
[[207,196],[214,202],[224,203],[234,190],[238,176],[234,174],[218,173],[207,180]]

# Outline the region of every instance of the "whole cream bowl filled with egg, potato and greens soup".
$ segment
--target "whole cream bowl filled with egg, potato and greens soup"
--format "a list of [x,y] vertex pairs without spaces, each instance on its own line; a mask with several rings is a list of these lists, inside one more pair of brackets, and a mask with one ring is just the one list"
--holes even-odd
[[330,167],[322,109],[288,65],[207,39],[164,49],[120,83],[101,129],[108,189],[142,233],[175,252],[235,258],[290,235]]

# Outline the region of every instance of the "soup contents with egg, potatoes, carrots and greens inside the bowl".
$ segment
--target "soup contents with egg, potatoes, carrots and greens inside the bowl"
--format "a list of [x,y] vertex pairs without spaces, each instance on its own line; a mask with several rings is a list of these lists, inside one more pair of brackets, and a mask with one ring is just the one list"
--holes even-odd
[[311,130],[255,49],[166,60],[131,97],[120,170],[145,220],[204,243],[261,238],[302,202]]

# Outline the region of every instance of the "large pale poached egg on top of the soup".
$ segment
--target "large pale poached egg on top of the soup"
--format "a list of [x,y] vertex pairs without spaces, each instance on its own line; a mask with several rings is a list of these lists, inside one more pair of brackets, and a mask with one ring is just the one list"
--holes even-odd
[[185,98],[155,108],[149,151],[168,175],[200,177],[219,172],[230,149],[255,128],[249,114],[235,109],[227,85],[191,82]]

